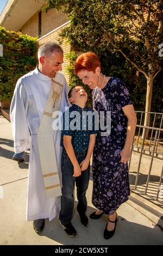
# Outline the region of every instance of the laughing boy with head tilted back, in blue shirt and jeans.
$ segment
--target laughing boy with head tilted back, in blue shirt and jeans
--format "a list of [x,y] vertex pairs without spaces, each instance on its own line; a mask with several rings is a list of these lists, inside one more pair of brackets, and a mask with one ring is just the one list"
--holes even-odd
[[[63,129],[61,132],[61,146],[63,147],[61,158],[62,171],[62,196],[61,210],[59,214],[60,224],[68,236],[75,236],[76,230],[71,224],[74,206],[74,184],[77,186],[78,205],[77,211],[80,223],[85,227],[89,224],[86,216],[86,190],[90,177],[90,158],[95,146],[96,131],[93,123],[88,129],[88,121],[84,124],[83,114],[93,109],[85,107],[87,93],[81,86],[71,88],[68,99],[72,106],[63,115]],[[67,113],[70,115],[66,123]],[[76,122],[72,115],[76,115]],[[83,122],[82,122],[83,121]],[[92,120],[89,120],[90,122]],[[68,126],[67,126],[68,124]],[[76,124],[76,125],[75,125]],[[73,126],[75,125],[75,126]]]

